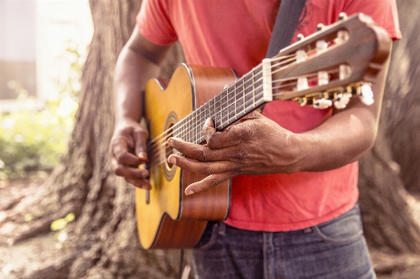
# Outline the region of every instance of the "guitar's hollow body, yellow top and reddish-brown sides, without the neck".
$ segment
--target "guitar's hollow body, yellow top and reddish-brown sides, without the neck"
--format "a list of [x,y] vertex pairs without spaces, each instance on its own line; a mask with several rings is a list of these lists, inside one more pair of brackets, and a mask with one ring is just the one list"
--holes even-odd
[[151,149],[151,190],[136,189],[137,229],[143,248],[192,248],[201,238],[208,220],[224,220],[229,213],[230,181],[203,192],[186,196],[185,188],[205,176],[179,169],[167,159],[172,148],[166,145],[176,136],[171,127],[224,85],[236,79],[231,69],[187,66],[175,71],[168,87],[150,80],[144,91],[145,117]]

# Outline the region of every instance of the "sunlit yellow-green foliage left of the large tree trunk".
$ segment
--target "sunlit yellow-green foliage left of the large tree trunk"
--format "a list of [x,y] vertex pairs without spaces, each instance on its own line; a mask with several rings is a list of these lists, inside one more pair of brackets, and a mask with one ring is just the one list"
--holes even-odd
[[[67,60],[69,72],[56,80],[60,98],[46,108],[20,110],[0,115],[0,180],[22,178],[31,171],[49,171],[67,151],[78,108],[84,57],[78,47],[67,48],[59,57]],[[17,101],[27,101],[27,96]]]

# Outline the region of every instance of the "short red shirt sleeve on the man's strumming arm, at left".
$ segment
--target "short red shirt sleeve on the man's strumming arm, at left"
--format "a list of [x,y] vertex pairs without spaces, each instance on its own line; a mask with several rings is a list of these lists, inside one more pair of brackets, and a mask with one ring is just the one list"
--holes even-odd
[[140,33],[152,43],[169,45],[177,41],[167,0],[143,0],[136,23]]

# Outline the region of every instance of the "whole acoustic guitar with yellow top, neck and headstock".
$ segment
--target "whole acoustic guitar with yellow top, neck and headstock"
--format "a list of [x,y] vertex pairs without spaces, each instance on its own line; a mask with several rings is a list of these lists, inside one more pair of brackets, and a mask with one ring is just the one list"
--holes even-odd
[[149,126],[151,190],[136,189],[137,228],[143,248],[192,248],[209,220],[225,220],[230,181],[186,196],[204,178],[168,163],[171,136],[203,144],[209,117],[218,131],[273,100],[316,108],[344,108],[351,96],[370,104],[370,85],[386,61],[391,38],[363,14],[300,38],[278,55],[236,78],[231,69],[182,64],[168,83],[150,80],[144,90]]

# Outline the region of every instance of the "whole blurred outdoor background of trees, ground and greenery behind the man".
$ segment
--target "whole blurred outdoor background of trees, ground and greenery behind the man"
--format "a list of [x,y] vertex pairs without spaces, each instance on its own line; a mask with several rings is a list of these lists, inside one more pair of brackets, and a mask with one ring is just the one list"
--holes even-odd
[[[396,2],[403,38],[360,160],[360,210],[378,278],[418,279],[420,1]],[[175,278],[191,264],[189,250],[179,263],[141,248],[134,189],[109,164],[114,65],[140,4],[0,0],[0,279]],[[175,44],[161,77],[181,62]]]

